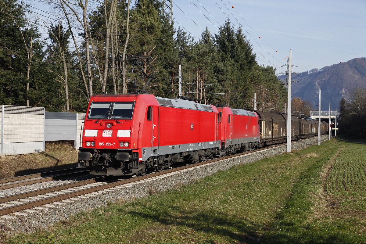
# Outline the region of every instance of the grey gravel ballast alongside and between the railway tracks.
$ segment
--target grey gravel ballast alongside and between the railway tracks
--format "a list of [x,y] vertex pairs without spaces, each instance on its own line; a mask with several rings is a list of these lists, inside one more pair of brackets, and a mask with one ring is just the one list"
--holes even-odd
[[[328,135],[321,137],[322,141],[328,139]],[[294,142],[291,144],[291,150],[301,150],[309,145],[318,144],[318,139],[307,139],[303,142]],[[120,187],[111,188],[112,191],[101,191],[100,195],[95,196],[79,196],[71,198],[68,201],[60,202],[60,205],[48,204],[45,209],[34,209],[34,213],[21,211],[18,215],[11,214],[10,218],[0,218],[0,232],[8,231],[9,234],[16,232],[34,232],[38,229],[47,229],[49,225],[54,225],[60,220],[65,220],[69,215],[80,213],[81,211],[90,211],[96,207],[106,206],[108,202],[124,199],[131,200],[134,198],[142,198],[151,195],[153,192],[166,191],[176,186],[194,183],[198,179],[209,176],[220,170],[228,170],[234,165],[246,164],[261,160],[265,157],[272,157],[286,152],[286,145],[276,147],[275,149],[266,149],[260,153],[251,153],[230,159],[224,159],[219,162],[213,162],[207,165],[197,166],[194,168],[181,170],[157,176],[147,180],[137,181],[135,183]],[[194,170],[194,171],[193,171]],[[70,181],[74,181],[72,179]],[[64,182],[62,184],[66,184]],[[45,188],[53,186],[55,182],[38,183],[38,187]],[[20,188],[20,187],[19,187]],[[32,189],[36,189],[33,185]],[[28,188],[22,188],[20,191],[30,191]],[[6,191],[19,191],[19,189],[7,189],[0,191],[0,196],[10,195]],[[12,193],[14,194],[14,193]],[[21,215],[19,215],[21,214]],[[26,215],[27,214],[27,215]]]

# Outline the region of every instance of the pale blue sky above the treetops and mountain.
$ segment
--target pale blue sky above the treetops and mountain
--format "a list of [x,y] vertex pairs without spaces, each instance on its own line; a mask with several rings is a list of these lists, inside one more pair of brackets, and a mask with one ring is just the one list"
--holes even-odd
[[[52,11],[39,0],[27,2]],[[173,18],[175,29],[196,41],[206,26],[217,34],[227,18],[234,28],[242,25],[258,63],[276,67],[276,74],[286,70],[290,49],[293,72],[366,57],[366,0],[173,0]]]

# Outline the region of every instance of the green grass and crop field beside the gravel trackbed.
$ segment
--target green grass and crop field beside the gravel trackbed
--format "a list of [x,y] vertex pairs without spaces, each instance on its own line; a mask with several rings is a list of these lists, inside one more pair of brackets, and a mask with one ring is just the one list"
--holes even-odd
[[[366,243],[366,214],[359,197],[365,194],[364,146],[332,139],[147,198],[110,203],[49,231],[19,234],[7,241]],[[353,165],[343,169],[345,181],[335,177],[341,172],[338,165],[347,165],[341,160]],[[348,206],[357,209],[356,214],[350,214]]]

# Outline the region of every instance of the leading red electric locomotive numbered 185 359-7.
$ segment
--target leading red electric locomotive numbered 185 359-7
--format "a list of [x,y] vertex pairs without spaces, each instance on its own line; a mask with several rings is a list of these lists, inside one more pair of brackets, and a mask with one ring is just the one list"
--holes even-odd
[[79,148],[92,174],[145,174],[173,162],[220,153],[219,112],[212,105],[139,95],[93,95]]

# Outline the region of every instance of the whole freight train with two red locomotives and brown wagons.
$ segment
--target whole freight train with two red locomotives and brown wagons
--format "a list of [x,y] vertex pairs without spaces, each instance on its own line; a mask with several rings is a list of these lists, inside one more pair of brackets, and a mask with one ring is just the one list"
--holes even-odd
[[[143,175],[282,143],[287,114],[232,109],[152,94],[93,95],[79,168],[99,175]],[[321,133],[328,123],[321,121]],[[318,134],[318,121],[291,116],[291,140]]]

